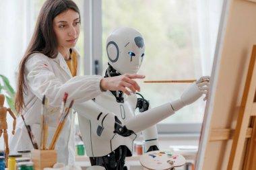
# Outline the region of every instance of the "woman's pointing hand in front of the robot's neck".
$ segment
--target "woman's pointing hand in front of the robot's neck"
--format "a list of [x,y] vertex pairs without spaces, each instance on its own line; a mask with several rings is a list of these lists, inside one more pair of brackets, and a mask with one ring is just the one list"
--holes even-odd
[[115,77],[106,77],[100,81],[100,88],[103,91],[119,90],[119,91],[123,91],[127,95],[131,95],[131,93],[127,90],[127,88],[130,89],[133,93],[136,93],[136,91],[140,91],[139,85],[133,79],[144,79],[144,78],[145,78],[144,75],[137,75],[137,74],[125,74],[125,75],[119,75]]

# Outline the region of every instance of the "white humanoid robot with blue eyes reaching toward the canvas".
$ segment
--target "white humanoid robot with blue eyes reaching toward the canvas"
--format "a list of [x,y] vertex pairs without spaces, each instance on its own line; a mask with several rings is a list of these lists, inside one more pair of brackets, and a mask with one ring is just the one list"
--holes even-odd
[[[108,36],[106,51],[108,68],[105,77],[137,73],[144,57],[143,37],[133,28],[119,28]],[[86,155],[92,165],[106,169],[126,169],[125,157],[133,153],[133,141],[143,131],[146,151],[158,150],[156,123],[174,114],[185,105],[207,94],[210,77],[201,77],[181,95],[180,99],[150,109],[146,99],[122,91],[106,91],[84,110],[96,115],[88,118],[78,114],[79,128]],[[91,102],[92,103],[92,102]],[[100,105],[100,108],[96,108]],[[139,114],[135,115],[136,108]]]

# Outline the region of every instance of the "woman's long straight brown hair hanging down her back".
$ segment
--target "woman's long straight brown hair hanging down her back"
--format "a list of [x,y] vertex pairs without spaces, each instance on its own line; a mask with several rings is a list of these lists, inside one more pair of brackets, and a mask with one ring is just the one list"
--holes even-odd
[[17,93],[15,96],[15,110],[18,114],[26,108],[23,98],[27,90],[24,75],[26,61],[31,54],[36,52],[40,52],[49,58],[57,57],[58,42],[55,32],[53,31],[53,19],[60,13],[67,11],[67,9],[73,9],[80,17],[77,5],[71,0],[47,0],[40,10],[30,44],[20,61]]

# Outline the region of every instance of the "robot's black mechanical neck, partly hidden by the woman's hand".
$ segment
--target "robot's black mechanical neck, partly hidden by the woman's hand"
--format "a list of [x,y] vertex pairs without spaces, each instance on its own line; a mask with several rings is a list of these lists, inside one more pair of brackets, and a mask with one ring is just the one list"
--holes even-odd
[[[104,77],[115,77],[121,75],[108,63],[108,69],[106,69]],[[117,99],[117,103],[123,103],[123,91],[110,91]]]

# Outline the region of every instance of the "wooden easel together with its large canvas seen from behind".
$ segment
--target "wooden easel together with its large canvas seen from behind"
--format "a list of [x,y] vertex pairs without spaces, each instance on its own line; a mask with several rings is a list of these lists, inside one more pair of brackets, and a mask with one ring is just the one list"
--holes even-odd
[[[253,0],[255,1],[255,0]],[[223,1],[195,169],[256,169],[256,3]],[[252,52],[253,51],[253,52]]]

